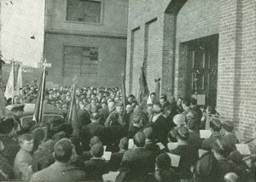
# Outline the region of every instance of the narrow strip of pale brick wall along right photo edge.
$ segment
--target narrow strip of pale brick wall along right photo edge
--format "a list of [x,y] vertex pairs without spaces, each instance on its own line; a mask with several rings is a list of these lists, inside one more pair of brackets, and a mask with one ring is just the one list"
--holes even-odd
[[251,139],[256,133],[256,2],[242,3],[239,130]]

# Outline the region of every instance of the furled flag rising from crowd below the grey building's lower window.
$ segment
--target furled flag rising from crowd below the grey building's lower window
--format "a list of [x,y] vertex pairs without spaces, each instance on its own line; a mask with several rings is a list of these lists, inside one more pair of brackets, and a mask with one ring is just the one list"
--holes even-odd
[[71,88],[71,100],[68,108],[67,122],[73,127],[73,136],[79,137],[79,119],[76,105],[76,84]]

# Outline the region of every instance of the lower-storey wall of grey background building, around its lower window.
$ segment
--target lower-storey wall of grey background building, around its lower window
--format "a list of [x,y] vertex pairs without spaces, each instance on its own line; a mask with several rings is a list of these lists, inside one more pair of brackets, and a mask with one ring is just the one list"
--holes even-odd
[[63,46],[99,48],[97,77],[78,77],[79,85],[95,87],[121,87],[121,71],[125,70],[126,40],[108,37],[86,37],[61,34],[47,34],[45,40],[46,59],[52,63],[48,82],[71,85],[73,77],[62,77]]

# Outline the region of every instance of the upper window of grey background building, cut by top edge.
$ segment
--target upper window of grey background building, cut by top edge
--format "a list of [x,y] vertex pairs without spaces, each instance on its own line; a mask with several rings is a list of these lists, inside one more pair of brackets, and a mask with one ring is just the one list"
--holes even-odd
[[67,19],[84,23],[101,23],[102,2],[96,0],[67,0]]

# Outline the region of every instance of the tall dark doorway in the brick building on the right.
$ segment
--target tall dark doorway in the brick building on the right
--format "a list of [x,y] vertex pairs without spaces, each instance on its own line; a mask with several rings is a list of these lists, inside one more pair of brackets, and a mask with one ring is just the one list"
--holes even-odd
[[187,47],[187,97],[195,97],[200,105],[216,105],[218,81],[218,35],[185,43]]

